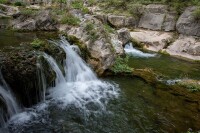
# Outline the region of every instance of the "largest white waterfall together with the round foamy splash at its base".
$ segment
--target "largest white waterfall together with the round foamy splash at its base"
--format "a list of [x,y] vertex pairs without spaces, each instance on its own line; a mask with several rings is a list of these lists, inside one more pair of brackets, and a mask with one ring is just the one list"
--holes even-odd
[[88,110],[87,107],[92,104],[100,110],[105,110],[108,99],[118,95],[117,87],[99,80],[64,37],[59,41],[50,42],[61,47],[66,53],[64,61],[66,80],[49,89],[49,99],[58,101],[62,108],[73,104]]

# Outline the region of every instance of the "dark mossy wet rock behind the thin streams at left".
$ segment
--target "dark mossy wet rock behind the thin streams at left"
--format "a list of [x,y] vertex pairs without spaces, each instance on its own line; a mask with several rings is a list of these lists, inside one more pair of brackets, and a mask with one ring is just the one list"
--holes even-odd
[[1,62],[2,74],[9,84],[17,99],[25,107],[30,107],[41,100],[39,84],[39,75],[37,71],[37,62],[40,60],[43,66],[43,72],[46,77],[47,87],[55,80],[55,72],[49,67],[46,60],[39,58],[40,52],[46,52],[58,60],[62,65],[64,60],[64,52],[55,46],[46,44],[40,49],[33,49],[31,45],[23,45],[19,48],[3,51],[1,55],[4,57]]

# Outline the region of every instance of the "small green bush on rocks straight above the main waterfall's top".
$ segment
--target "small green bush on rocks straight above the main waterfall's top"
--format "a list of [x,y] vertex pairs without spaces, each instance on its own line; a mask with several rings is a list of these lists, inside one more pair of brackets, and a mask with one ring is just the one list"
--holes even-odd
[[80,23],[80,19],[69,14],[69,13],[67,13],[67,14],[62,16],[60,22],[61,22],[61,24],[68,24],[68,25],[72,25],[72,26],[77,26]]

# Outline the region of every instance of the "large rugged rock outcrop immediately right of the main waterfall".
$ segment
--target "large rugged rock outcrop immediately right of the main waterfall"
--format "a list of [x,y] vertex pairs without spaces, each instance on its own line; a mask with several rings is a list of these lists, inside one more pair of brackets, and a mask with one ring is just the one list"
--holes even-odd
[[[97,18],[87,15],[83,16],[84,21],[81,22],[79,27],[71,27],[67,30],[67,34],[76,37],[78,40],[83,42],[90,53],[90,58],[87,62],[92,65],[98,75],[108,69],[114,63],[115,56],[117,54],[123,54],[122,42],[118,40],[118,37],[111,33],[106,33],[103,23]],[[93,25],[92,33],[87,30],[88,23]],[[95,35],[98,37],[92,40]],[[116,38],[115,42],[112,43],[112,38]]]

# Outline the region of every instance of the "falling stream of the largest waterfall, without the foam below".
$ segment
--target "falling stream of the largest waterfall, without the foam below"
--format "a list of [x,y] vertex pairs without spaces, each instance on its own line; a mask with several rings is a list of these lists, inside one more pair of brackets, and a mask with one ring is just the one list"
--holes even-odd
[[54,41],[53,43],[60,46],[66,53],[65,73],[67,82],[91,81],[97,79],[94,72],[86,65],[81,57],[74,52],[69,42],[64,37],[61,37],[60,41]]

